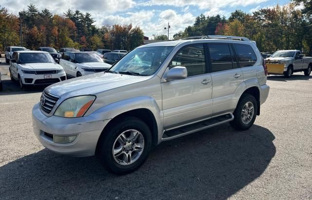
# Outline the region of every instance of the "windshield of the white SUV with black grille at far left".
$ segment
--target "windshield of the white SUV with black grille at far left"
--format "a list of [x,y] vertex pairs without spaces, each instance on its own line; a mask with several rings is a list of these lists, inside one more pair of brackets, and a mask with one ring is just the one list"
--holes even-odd
[[20,64],[26,63],[55,63],[48,53],[20,53]]

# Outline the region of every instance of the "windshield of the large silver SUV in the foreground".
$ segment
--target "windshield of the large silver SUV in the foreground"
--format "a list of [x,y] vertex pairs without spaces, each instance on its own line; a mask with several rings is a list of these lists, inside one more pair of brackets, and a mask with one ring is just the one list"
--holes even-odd
[[154,74],[174,47],[137,48],[120,59],[110,71],[132,72],[148,76]]

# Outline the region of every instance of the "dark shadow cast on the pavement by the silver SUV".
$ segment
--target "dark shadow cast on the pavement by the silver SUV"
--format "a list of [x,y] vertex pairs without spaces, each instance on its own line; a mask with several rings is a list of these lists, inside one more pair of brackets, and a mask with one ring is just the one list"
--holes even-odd
[[95,157],[43,149],[0,167],[1,199],[226,199],[275,155],[270,130],[210,128],[156,146],[136,172],[117,176]]

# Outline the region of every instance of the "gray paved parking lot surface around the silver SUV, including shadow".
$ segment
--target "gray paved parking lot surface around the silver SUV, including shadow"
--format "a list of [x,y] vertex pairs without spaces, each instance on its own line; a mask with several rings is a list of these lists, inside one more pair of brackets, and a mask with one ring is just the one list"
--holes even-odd
[[221,125],[164,142],[116,176],[94,157],[40,145],[31,109],[43,88],[21,91],[0,60],[0,199],[312,199],[312,76],[269,76],[249,130]]

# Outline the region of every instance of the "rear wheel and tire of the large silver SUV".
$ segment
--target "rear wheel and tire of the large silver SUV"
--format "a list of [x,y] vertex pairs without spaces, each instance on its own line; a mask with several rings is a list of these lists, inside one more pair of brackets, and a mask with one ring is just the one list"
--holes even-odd
[[[253,113],[251,114],[251,110],[246,110],[248,106],[251,109],[251,106],[254,108]],[[248,111],[249,117],[246,116],[246,111]],[[258,111],[258,104],[255,100],[254,96],[251,94],[243,94],[237,104],[237,107],[234,111],[234,120],[230,122],[230,125],[236,130],[247,130],[253,124],[256,118]],[[245,121],[244,121],[245,120]]]

